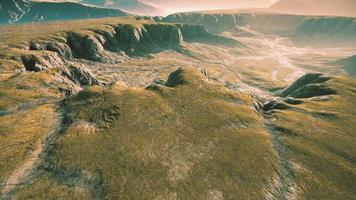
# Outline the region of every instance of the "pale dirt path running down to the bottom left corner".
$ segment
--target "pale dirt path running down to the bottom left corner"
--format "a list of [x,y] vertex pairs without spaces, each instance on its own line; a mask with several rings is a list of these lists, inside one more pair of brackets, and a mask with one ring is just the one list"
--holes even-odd
[[57,118],[54,123],[53,130],[48,135],[37,142],[31,155],[16,168],[5,182],[4,189],[2,190],[1,199],[10,199],[12,191],[27,183],[34,175],[34,170],[40,161],[42,152],[45,149],[46,141],[57,135],[61,130],[62,115],[57,113]]

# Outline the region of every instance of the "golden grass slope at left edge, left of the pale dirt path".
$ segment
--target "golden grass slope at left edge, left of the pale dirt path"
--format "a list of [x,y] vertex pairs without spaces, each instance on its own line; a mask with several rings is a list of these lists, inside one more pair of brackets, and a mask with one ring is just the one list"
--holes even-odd
[[43,105],[15,114],[0,115],[0,189],[16,167],[54,128],[54,105]]

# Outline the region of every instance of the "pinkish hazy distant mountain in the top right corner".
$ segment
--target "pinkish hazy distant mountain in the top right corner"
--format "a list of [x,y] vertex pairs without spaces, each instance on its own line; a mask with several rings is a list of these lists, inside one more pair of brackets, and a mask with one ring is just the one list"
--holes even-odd
[[356,16],[356,0],[280,0],[270,9],[302,15]]

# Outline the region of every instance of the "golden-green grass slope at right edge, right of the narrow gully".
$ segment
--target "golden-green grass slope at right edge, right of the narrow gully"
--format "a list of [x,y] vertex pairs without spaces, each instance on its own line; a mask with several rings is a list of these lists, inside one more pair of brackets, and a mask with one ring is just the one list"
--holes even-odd
[[283,132],[303,198],[355,199],[356,82],[339,77],[323,85],[337,94],[303,99],[278,111],[274,124]]

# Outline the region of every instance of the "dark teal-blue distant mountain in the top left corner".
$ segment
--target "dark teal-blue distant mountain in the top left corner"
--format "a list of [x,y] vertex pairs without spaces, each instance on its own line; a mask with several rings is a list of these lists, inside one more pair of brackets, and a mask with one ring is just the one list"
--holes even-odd
[[28,0],[0,1],[0,24],[127,15],[127,13],[119,9],[99,8],[74,2],[35,2]]

